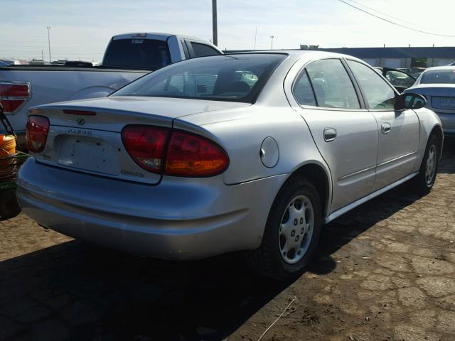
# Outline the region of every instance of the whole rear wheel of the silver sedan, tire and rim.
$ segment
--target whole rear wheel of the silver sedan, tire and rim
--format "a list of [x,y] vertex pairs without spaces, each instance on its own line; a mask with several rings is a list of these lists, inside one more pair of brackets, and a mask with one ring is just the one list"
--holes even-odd
[[287,180],[272,204],[259,249],[249,251],[250,266],[264,276],[285,280],[301,274],[321,233],[321,201],[304,178]]

